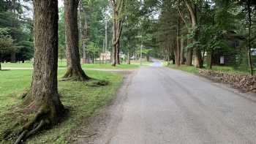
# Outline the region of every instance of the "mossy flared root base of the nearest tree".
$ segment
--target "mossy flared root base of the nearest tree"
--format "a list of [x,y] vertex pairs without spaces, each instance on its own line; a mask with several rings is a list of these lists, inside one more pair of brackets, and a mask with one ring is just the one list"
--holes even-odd
[[63,105],[56,105],[53,101],[35,102],[31,101],[31,94],[26,94],[22,105],[15,107],[4,116],[16,119],[10,127],[4,130],[0,139],[11,143],[21,143],[37,132],[56,125],[64,113],[67,112]]

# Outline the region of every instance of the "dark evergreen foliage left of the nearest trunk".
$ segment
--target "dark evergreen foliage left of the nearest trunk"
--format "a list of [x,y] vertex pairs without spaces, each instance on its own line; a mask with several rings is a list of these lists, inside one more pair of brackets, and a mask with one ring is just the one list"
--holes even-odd
[[25,12],[30,11],[25,3],[0,1],[1,61],[10,61],[10,53],[14,53],[17,58],[13,61],[25,61],[33,56],[32,22],[25,15]]

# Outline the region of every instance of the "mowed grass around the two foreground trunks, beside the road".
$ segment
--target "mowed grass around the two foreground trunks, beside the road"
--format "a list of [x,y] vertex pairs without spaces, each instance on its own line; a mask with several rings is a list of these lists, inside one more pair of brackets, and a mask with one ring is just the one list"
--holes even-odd
[[[64,72],[64,69],[59,70],[59,77],[64,75]],[[31,85],[31,73],[31,70],[0,71],[0,134],[12,122],[3,121],[1,115],[21,101],[18,96]],[[90,82],[60,81],[61,102],[69,109],[67,118],[52,129],[31,137],[27,143],[69,143],[69,139],[75,140],[86,120],[100,107],[110,103],[122,83],[122,76],[118,74],[91,70],[86,71],[86,74],[98,80],[108,80],[109,84],[90,86]],[[0,140],[0,143],[7,142]]]

